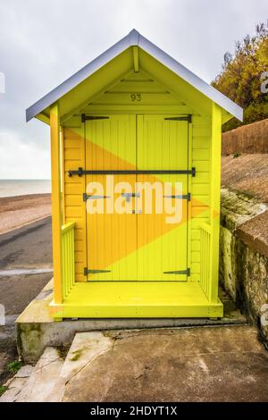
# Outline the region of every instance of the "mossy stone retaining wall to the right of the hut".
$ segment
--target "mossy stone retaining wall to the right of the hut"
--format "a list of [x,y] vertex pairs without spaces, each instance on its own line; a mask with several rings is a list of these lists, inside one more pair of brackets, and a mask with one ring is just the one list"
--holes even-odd
[[268,349],[267,222],[264,204],[222,189],[220,282]]

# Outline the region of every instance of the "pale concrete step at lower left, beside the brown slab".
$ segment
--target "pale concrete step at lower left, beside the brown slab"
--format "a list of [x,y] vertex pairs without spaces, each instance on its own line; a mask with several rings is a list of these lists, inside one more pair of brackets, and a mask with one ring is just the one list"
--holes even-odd
[[[61,369],[63,359],[57,349],[48,347],[39,358],[38,364],[26,382],[21,385],[21,391],[15,395],[15,402],[44,402],[54,388]],[[9,392],[6,391],[5,394]],[[4,397],[3,396],[3,397]]]

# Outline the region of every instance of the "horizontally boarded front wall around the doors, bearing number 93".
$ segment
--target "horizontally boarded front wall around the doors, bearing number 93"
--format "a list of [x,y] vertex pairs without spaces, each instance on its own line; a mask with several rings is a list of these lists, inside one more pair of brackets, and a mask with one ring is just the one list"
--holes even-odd
[[132,73],[105,91],[95,101],[85,106],[63,124],[63,214],[64,222],[75,222],[75,273],[76,281],[87,281],[86,206],[82,194],[86,191],[86,177],[68,177],[68,171],[85,168],[85,124],[81,113],[170,113],[192,114],[189,124],[188,167],[196,168],[196,176],[188,176],[191,193],[188,219],[188,267],[189,281],[200,280],[200,223],[208,223],[210,217],[210,155],[211,117],[193,112],[172,92],[152,79],[147,73]]

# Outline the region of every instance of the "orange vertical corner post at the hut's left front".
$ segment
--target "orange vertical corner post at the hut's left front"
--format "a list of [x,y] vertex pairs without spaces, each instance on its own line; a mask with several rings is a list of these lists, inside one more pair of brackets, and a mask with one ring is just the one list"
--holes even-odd
[[61,150],[59,105],[50,106],[51,143],[51,199],[52,199],[52,244],[54,262],[54,302],[63,303],[62,289],[62,203],[61,203]]

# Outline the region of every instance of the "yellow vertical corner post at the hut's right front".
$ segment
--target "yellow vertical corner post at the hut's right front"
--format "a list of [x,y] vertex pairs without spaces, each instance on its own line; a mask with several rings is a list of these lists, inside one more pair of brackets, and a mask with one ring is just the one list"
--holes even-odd
[[212,105],[212,142],[211,142],[211,208],[210,220],[212,227],[210,241],[210,293],[209,300],[218,300],[218,270],[219,270],[219,234],[221,205],[221,143],[222,143],[222,109]]

